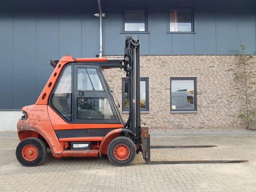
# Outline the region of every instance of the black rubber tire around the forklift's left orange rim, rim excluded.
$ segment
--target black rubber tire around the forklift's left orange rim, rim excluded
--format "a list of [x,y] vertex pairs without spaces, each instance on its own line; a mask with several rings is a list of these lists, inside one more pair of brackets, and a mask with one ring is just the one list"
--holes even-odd
[[[27,145],[33,145],[36,147],[37,152],[38,152],[36,159],[28,161],[25,159],[25,157],[23,157],[22,150]],[[18,146],[16,148],[17,160],[20,162],[20,164],[22,164],[26,167],[35,167],[35,166],[41,164],[46,157],[46,153],[47,153],[47,148],[46,148],[44,141],[42,141],[41,139],[38,139],[36,137],[30,137],[30,138],[20,141],[20,143],[18,144]]]

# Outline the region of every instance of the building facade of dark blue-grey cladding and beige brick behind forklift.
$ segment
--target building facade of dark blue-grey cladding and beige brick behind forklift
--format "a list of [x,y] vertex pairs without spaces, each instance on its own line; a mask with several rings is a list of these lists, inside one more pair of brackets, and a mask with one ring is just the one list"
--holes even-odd
[[[241,43],[245,54],[256,54],[255,7],[253,0],[101,1],[104,56],[122,56],[125,37],[140,36],[143,122],[156,129],[245,128],[234,73]],[[50,59],[99,55],[98,12],[96,0],[0,2],[2,130],[15,130],[16,111],[35,103],[52,73]],[[126,120],[125,73],[105,73]]]

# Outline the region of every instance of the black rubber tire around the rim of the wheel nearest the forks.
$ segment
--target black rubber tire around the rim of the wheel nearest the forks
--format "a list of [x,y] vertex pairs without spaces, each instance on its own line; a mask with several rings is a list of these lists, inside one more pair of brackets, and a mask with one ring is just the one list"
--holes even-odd
[[[126,145],[129,148],[129,156],[125,160],[119,160],[114,155],[114,150],[118,145]],[[136,156],[136,149],[133,141],[125,136],[118,136],[114,138],[108,145],[108,159],[116,166],[127,166],[131,164]]]

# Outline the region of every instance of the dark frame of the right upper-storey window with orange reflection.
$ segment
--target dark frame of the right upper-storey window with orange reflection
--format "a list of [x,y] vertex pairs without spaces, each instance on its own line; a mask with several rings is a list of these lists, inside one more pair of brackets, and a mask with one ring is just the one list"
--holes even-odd
[[[191,31],[171,31],[170,30],[170,10],[191,10]],[[194,7],[170,7],[167,14],[167,33],[195,33]]]

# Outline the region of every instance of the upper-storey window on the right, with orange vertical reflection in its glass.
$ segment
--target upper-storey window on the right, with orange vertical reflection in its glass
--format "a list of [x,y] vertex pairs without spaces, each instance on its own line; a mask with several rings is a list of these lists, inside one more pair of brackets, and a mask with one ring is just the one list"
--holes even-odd
[[194,16],[192,9],[169,10],[170,32],[194,32]]

